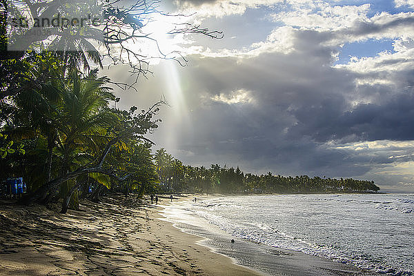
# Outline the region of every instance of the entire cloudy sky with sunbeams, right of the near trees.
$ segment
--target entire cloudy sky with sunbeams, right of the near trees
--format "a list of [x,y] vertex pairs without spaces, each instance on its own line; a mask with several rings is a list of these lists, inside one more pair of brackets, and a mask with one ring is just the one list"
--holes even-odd
[[[148,26],[161,50],[188,59],[155,61],[138,92],[117,91],[121,108],[168,100],[150,137],[155,149],[194,166],[370,179],[414,192],[414,0],[176,0],[161,8],[224,37],[166,36],[166,19]],[[131,79],[127,66],[103,73]]]

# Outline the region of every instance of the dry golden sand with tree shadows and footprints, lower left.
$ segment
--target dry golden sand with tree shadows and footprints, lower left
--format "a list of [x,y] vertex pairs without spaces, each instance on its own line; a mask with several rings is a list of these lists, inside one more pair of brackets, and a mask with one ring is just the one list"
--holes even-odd
[[0,275],[257,275],[196,244],[201,238],[157,210],[135,195],[85,200],[66,215],[1,204]]

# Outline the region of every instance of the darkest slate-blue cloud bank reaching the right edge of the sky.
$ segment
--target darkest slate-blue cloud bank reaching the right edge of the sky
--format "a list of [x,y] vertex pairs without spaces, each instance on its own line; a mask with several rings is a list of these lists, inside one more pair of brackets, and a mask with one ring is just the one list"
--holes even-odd
[[414,140],[414,96],[397,95],[390,101],[359,104],[351,111],[337,110],[335,103],[325,101],[317,107],[296,110],[298,124],[290,135],[311,135],[316,141],[353,137],[355,141]]

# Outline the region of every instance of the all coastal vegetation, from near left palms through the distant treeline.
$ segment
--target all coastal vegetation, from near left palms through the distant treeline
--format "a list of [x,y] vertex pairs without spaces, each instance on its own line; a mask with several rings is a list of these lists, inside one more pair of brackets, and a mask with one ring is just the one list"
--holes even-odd
[[[21,197],[22,204],[47,205],[62,201],[61,212],[66,213],[68,208],[79,207],[80,197],[98,201],[99,195],[108,191],[125,195],[134,191],[144,195],[161,192],[368,193],[379,190],[373,181],[282,177],[270,172],[252,175],[239,168],[219,165],[211,168],[185,166],[164,149],[153,153],[149,135],[159,127],[157,112],[166,101],[162,99],[142,110],[136,106],[129,110],[116,108],[119,98],[115,97],[114,90],[132,86],[99,75],[95,67],[103,67],[103,55],[90,41],[94,40],[92,32],[99,32],[103,37],[99,42],[106,47],[112,64],[130,66],[132,78],[146,75],[150,72],[147,59],[128,49],[124,42],[148,39],[149,34],[137,34],[145,20],[131,14],[159,13],[155,6],[157,1],[137,1],[135,6],[124,9],[111,6],[113,3],[104,4],[101,7],[103,20],[110,26],[109,31],[67,26],[70,32],[59,29],[49,49],[42,38],[28,41],[26,37],[25,41],[21,30],[10,32],[6,28],[6,1],[1,4],[0,180],[6,187],[8,179],[23,178],[27,191]],[[63,9],[59,3],[55,4],[60,14],[65,14],[71,5],[66,3]],[[52,18],[56,5],[45,5],[43,12]],[[88,3],[81,8],[88,10]],[[173,33],[220,36],[217,31],[184,26]],[[65,37],[68,34],[72,37]],[[27,44],[26,50],[6,50],[8,45],[22,41]],[[123,52],[128,54],[127,58]],[[182,57],[167,56],[160,51],[157,58],[177,60]],[[10,187],[3,190],[3,195],[10,193]]]

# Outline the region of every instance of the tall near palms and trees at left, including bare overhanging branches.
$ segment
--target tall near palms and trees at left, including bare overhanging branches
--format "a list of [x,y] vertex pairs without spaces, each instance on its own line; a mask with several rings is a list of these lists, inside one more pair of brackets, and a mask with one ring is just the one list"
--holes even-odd
[[[163,14],[157,10],[158,3],[138,0],[124,8],[116,1],[46,1],[33,6],[29,2],[0,0],[0,50],[4,54],[0,59],[0,128],[8,135],[0,137],[1,177],[19,174],[38,202],[60,195],[70,201],[72,208],[79,203],[79,190],[91,184],[99,187],[97,190],[122,188],[126,194],[130,190],[153,193],[158,189],[151,142],[144,135],[158,128],[155,115],[163,102],[140,112],[135,106],[129,111],[110,108],[112,101],[119,101],[108,87],[112,82],[99,77],[97,69],[91,69],[92,65],[102,67],[102,55],[96,48],[99,45],[113,63],[128,63],[130,72],[137,75],[150,72],[148,55],[137,52],[136,47],[126,47],[133,46],[128,41],[139,38],[159,48],[150,33],[139,30],[152,20],[151,14]],[[28,19],[103,14],[101,26],[105,27],[66,26],[52,36],[29,37],[25,30],[7,27],[6,10]],[[24,14],[21,10],[25,10]],[[10,31],[8,35],[6,31]],[[221,34],[190,25],[174,31],[208,37]],[[23,51],[7,51],[7,45],[19,46]],[[182,58],[179,54],[167,57],[161,52],[159,57]],[[4,159],[9,157],[11,161],[6,162]],[[170,188],[182,188],[184,166],[179,160],[171,161],[168,176],[161,177],[168,178]]]

